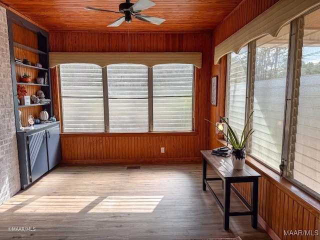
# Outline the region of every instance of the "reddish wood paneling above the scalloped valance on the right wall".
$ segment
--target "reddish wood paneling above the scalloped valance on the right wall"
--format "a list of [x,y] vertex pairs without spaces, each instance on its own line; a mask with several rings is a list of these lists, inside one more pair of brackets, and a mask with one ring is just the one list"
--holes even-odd
[[243,0],[215,27],[213,45],[221,43],[277,1],[279,0]]

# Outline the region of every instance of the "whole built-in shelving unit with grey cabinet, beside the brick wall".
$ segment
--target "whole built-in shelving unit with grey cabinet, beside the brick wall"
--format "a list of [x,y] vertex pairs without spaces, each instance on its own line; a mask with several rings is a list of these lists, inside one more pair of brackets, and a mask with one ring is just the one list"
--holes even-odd
[[[44,109],[47,110],[49,116],[53,116],[48,64],[48,33],[9,10],[7,10],[7,24],[20,182],[21,188],[24,189],[60,162],[60,126],[59,122],[48,121],[45,124],[33,126],[29,126],[28,122],[29,115],[37,118]],[[28,59],[30,64],[24,64],[27,61],[23,59]],[[36,63],[40,63],[42,67],[38,67]],[[31,82],[21,81],[25,72],[30,75]],[[43,83],[47,84],[36,83],[37,77],[43,77]],[[26,95],[30,96],[31,104],[18,104],[17,87],[25,88]],[[33,103],[31,95],[36,95],[39,90],[43,91],[44,98],[49,100]],[[19,113],[23,127],[20,127]]]

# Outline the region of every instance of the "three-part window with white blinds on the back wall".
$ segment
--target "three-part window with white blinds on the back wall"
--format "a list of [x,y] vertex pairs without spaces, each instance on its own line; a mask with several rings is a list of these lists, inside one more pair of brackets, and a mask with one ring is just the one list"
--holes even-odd
[[[191,64],[61,64],[64,132],[191,131]],[[105,72],[105,73],[102,73]]]

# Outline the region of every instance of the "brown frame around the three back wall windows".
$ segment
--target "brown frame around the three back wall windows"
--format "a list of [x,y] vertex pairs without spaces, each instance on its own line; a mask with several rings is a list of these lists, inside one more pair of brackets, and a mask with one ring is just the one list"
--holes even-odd
[[[63,63],[61,63],[63,64]],[[88,63],[90,64],[90,63]],[[115,63],[117,64],[117,63]],[[131,64],[131,63],[128,63]],[[137,64],[137,63],[134,63]],[[148,84],[148,97],[147,97],[147,102],[148,102],[148,131],[145,132],[110,132],[110,127],[109,127],[109,102],[108,102],[108,82],[107,82],[107,65],[104,67],[101,67],[102,70],[102,89],[103,89],[103,114],[104,114],[104,133],[146,133],[146,132],[194,132],[194,98],[195,98],[195,91],[194,91],[194,86],[195,86],[195,74],[196,74],[196,66],[193,64],[189,63],[160,63],[161,64],[185,64],[185,65],[192,65],[192,96],[191,96],[191,129],[190,130],[177,130],[177,131],[153,131],[153,66],[148,67],[147,74],[148,74],[148,79],[147,79],[147,84]],[[144,65],[144,64],[141,64]],[[155,65],[154,65],[155,66]],[[62,106],[62,96],[61,96],[61,81],[60,81],[60,66],[57,66],[57,77],[59,79],[59,91],[60,91],[60,109],[61,109],[61,115],[63,115],[63,106]],[[62,124],[62,132],[63,133],[88,133],[88,132],[64,132],[64,122],[61,120]],[[103,133],[101,132],[95,132],[95,133]]]

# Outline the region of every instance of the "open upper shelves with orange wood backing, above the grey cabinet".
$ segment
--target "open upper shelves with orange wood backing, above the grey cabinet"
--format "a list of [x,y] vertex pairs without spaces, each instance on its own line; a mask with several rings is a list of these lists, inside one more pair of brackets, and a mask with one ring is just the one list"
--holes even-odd
[[[7,11],[12,87],[14,97],[15,125],[19,130],[19,112],[21,112],[21,124],[27,126],[28,115],[34,118],[39,116],[40,111],[46,109],[49,116],[53,115],[52,100],[47,103],[33,103],[29,105],[18,104],[17,86],[21,85],[26,90],[26,95],[36,95],[37,91],[43,91],[45,99],[51,99],[50,71],[48,65],[48,33],[38,26],[26,21],[13,12]],[[19,60],[17,60],[19,59]],[[30,64],[23,63],[28,59]],[[22,62],[21,62],[22,61]],[[38,67],[36,63],[40,63]],[[37,65],[37,66],[36,66]],[[22,82],[22,75],[27,72],[31,82]],[[37,77],[43,77],[44,83],[36,83]],[[45,81],[46,79],[46,81]],[[20,100],[20,102],[22,102]]]

